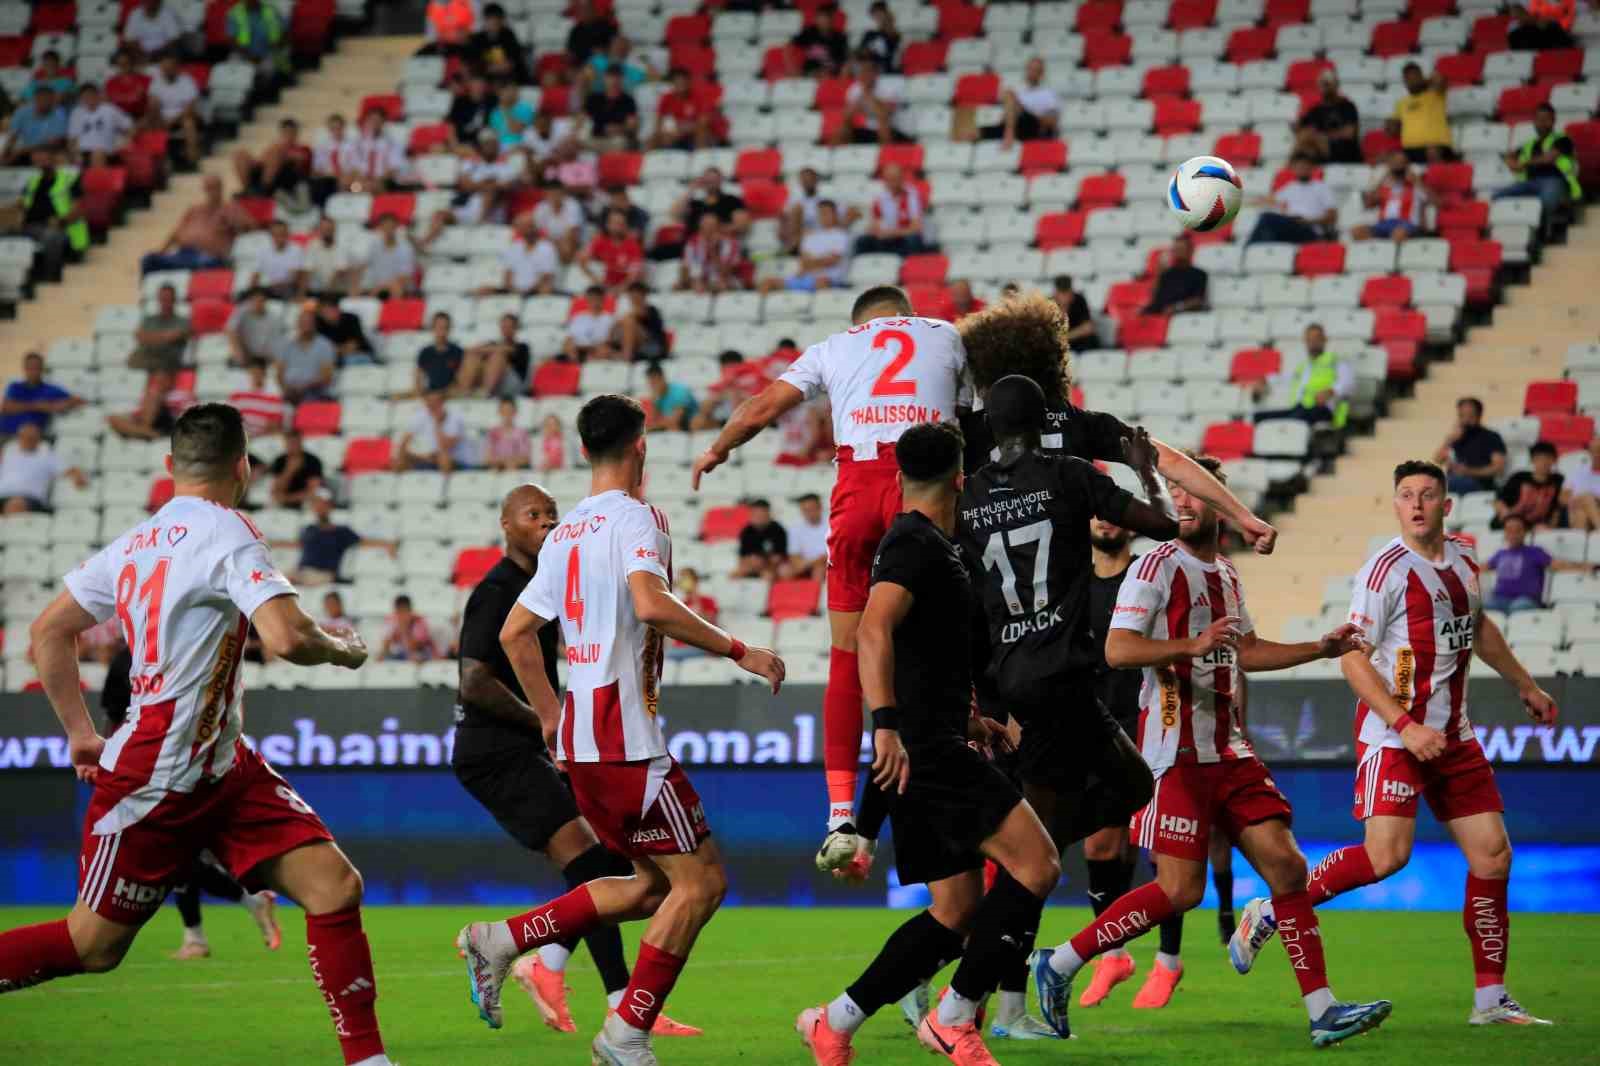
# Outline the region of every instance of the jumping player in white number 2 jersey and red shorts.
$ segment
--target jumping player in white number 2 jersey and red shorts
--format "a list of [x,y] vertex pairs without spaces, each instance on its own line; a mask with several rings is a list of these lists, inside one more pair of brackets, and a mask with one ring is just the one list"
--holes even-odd
[[822,770],[827,773],[827,839],[818,863],[832,869],[854,858],[861,771],[861,672],[856,627],[867,605],[872,557],[901,511],[894,442],[920,423],[954,423],[971,407],[966,347],[949,322],[912,315],[893,285],[856,298],[851,328],[818,341],[773,384],[734,410],[722,434],[694,461],[694,488],[733,450],[803,400],[826,392],[834,411],[838,477],[827,514],[827,618],[832,647],[822,696]]

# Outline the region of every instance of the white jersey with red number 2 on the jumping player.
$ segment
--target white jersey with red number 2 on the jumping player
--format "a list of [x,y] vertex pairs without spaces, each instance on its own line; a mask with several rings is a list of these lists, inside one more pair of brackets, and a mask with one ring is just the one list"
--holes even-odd
[[917,423],[954,423],[971,407],[966,346],[949,322],[886,317],[862,322],[808,347],[778,378],[805,399],[826,392],[834,442],[875,459]]

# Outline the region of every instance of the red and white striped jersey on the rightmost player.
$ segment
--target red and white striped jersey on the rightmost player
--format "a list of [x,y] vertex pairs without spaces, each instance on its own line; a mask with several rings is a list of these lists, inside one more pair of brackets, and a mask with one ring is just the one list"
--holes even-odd
[[[1478,560],[1466,541],[1445,538],[1445,559],[1418,555],[1398,536],[1362,567],[1350,621],[1373,642],[1373,666],[1406,714],[1450,743],[1474,738],[1467,666],[1482,608]],[[1403,747],[1365,701],[1355,704],[1363,744]]]

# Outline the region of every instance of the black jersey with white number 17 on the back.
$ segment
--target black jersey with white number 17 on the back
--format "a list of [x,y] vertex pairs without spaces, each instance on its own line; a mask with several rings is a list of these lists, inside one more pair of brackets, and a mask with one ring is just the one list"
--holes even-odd
[[1122,525],[1133,496],[1075,456],[1024,451],[966,479],[957,533],[989,624],[998,695],[1093,674],[1090,517]]

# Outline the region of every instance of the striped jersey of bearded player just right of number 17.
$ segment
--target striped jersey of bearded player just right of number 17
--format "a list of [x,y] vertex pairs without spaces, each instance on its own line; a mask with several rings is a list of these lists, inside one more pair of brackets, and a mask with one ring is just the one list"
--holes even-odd
[[[1134,562],[1123,576],[1110,629],[1133,629],[1152,640],[1187,640],[1218,618],[1238,618],[1253,632],[1234,563],[1214,563],[1168,541]],[[1139,752],[1157,776],[1174,763],[1254,759],[1242,728],[1243,671],[1229,648],[1171,667],[1144,671],[1139,688]]]

